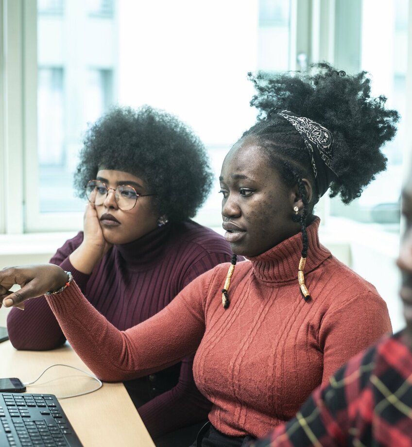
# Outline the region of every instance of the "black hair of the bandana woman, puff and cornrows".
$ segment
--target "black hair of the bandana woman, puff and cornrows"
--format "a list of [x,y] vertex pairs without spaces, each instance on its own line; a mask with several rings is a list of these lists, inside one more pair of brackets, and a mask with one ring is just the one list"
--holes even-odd
[[330,185],[330,197],[340,193],[343,203],[348,204],[386,169],[387,160],[380,148],[395,136],[399,114],[385,108],[384,96],[371,96],[367,72],[349,76],[319,63],[307,72],[248,76],[257,90],[250,104],[259,114],[257,124],[243,137],[253,136],[262,142],[286,184],[296,184],[295,175],[284,163],[280,167],[279,161],[291,163],[315,188],[304,139],[284,118],[276,113],[268,116],[274,108],[316,121],[333,134],[331,168],[338,179]]

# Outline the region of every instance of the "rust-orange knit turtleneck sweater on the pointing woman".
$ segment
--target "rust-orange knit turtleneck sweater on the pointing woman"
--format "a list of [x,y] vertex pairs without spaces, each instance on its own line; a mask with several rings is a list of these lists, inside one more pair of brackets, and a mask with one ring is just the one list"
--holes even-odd
[[351,356],[391,330],[376,289],[308,227],[305,302],[297,282],[301,235],[238,263],[223,309],[228,265],[191,282],[165,309],[126,331],[110,325],[73,285],[48,297],[70,344],[103,380],[150,374],[197,349],[193,372],[228,435],[265,435]]

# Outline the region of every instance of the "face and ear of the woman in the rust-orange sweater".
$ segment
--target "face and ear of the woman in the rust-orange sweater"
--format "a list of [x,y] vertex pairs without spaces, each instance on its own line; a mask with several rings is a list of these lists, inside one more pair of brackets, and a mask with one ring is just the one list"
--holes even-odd
[[[241,139],[233,146],[219,180],[225,239],[233,253],[257,256],[299,233],[300,224],[292,221],[293,208],[303,208],[297,185],[283,185],[256,140]],[[303,182],[310,200],[311,186]]]

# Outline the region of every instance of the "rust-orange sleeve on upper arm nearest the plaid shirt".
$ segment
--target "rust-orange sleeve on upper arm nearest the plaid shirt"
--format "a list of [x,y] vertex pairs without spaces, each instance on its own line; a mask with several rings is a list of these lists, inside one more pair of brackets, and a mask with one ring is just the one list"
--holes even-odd
[[327,384],[343,363],[390,332],[386,303],[372,292],[355,295],[326,312],[319,332],[324,352],[322,384]]

